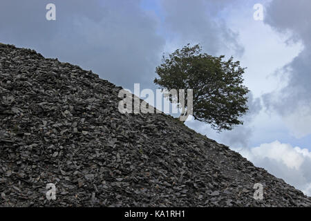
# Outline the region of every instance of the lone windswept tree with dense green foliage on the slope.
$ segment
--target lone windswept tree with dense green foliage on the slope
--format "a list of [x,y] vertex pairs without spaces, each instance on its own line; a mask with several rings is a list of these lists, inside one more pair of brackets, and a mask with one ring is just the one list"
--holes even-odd
[[[245,68],[233,57],[225,61],[224,55],[213,57],[201,50],[198,44],[187,44],[169,57],[163,55],[162,64],[156,68],[159,78],[154,83],[162,90],[193,89],[194,119],[211,124],[217,131],[231,130],[243,124],[238,117],[248,110],[249,90],[242,85]],[[186,95],[185,106],[187,103]]]

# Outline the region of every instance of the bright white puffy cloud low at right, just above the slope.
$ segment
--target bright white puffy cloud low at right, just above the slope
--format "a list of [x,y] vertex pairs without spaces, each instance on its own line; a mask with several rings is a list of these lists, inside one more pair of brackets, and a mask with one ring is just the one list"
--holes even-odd
[[311,196],[311,152],[306,148],[274,141],[254,148],[233,148],[269,173]]

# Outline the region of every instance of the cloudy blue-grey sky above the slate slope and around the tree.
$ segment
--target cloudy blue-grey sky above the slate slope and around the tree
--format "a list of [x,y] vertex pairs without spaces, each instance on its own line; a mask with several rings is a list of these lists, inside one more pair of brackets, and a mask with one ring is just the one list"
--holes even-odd
[[[56,20],[46,19],[46,5]],[[255,4],[263,20],[255,20]],[[233,56],[245,70],[244,124],[216,133],[230,146],[311,195],[311,1],[309,0],[1,0],[0,42],[79,65],[117,86],[156,91],[162,53],[190,43]]]

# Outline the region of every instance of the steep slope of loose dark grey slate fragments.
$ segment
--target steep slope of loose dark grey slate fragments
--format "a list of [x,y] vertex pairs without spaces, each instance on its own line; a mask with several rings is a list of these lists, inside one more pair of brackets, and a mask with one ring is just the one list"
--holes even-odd
[[[311,206],[227,146],[164,114],[121,114],[120,87],[0,45],[1,206]],[[46,184],[56,200],[46,199]],[[255,183],[264,186],[254,200]]]

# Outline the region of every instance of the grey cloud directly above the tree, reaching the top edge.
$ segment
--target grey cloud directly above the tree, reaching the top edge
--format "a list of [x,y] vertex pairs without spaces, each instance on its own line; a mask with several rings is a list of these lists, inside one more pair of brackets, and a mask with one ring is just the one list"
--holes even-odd
[[221,49],[232,49],[242,55],[244,48],[236,40],[238,33],[227,27],[221,12],[231,1],[162,0],[165,23],[170,35],[177,35],[182,44],[200,43],[210,55]]

